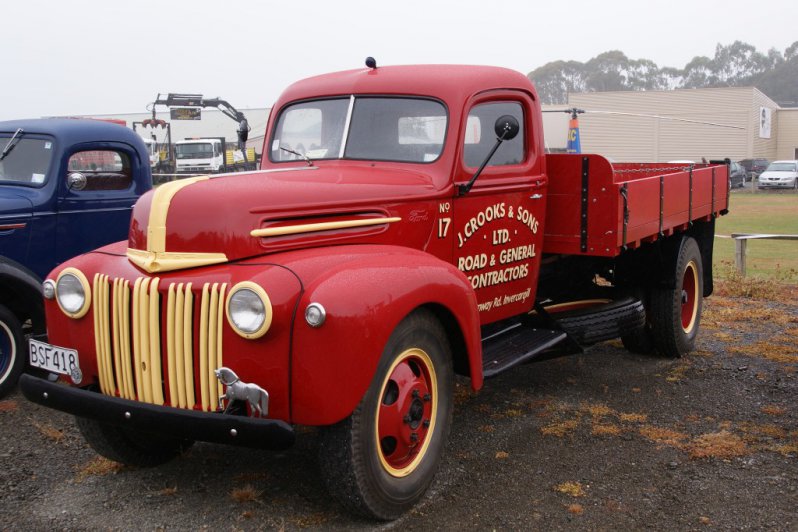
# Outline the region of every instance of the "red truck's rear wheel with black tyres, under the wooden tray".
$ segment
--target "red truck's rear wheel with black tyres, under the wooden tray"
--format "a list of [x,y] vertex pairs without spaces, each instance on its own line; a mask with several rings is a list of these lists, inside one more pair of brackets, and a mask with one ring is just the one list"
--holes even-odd
[[672,275],[674,288],[651,294],[651,324],[657,351],[678,358],[695,347],[703,308],[704,268],[693,238],[682,239]]

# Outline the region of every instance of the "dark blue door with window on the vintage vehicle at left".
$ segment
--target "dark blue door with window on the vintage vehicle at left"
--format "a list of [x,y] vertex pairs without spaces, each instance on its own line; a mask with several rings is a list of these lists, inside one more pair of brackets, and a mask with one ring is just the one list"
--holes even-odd
[[56,225],[58,262],[127,238],[137,186],[146,173],[121,143],[76,148],[62,170]]

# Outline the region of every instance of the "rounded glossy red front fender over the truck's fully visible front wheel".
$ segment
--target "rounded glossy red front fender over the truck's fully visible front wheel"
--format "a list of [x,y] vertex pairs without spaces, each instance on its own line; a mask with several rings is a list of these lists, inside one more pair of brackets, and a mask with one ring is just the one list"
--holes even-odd
[[[464,340],[472,386],[481,387],[476,296],[454,266],[396,246],[339,246],[304,255],[290,265],[305,286],[291,360],[295,423],[329,425],[351,414],[371,384],[394,328],[422,306],[453,316]],[[311,302],[326,310],[321,327],[305,322]]]

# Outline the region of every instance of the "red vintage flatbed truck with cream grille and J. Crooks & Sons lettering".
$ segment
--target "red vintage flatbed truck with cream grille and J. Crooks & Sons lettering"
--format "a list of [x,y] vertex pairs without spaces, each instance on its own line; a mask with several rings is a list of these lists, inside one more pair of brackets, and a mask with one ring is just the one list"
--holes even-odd
[[321,427],[325,481],[378,519],[440,462],[455,374],[622,338],[680,356],[712,292],[724,165],[547,155],[531,82],[370,67],[291,85],[260,170],[164,184],[129,239],[56,268],[34,402],[102,455],[283,448]]

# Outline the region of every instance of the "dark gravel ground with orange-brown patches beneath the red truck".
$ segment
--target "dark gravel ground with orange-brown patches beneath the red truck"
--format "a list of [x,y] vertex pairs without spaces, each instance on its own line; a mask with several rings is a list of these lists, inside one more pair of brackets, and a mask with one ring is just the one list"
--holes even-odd
[[197,444],[127,469],[16,392],[0,402],[0,529],[798,530],[796,295],[713,296],[683,359],[610,342],[476,394],[460,382],[433,487],[393,523],[339,509],[313,430],[283,453]]

